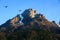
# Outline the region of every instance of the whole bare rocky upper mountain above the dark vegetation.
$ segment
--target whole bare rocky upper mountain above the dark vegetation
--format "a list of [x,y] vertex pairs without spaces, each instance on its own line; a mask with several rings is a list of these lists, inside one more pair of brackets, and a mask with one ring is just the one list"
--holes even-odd
[[[12,19],[9,19],[6,23],[0,26],[0,30],[2,31],[16,31],[16,30],[31,30],[33,27],[47,30],[49,32],[57,32],[59,33],[60,28],[58,25],[53,21],[48,21],[43,14],[36,14],[36,11],[29,8],[26,9],[22,14],[22,21],[23,25],[20,25],[20,16],[17,15]],[[33,17],[34,16],[34,17]],[[56,31],[55,31],[56,30]]]

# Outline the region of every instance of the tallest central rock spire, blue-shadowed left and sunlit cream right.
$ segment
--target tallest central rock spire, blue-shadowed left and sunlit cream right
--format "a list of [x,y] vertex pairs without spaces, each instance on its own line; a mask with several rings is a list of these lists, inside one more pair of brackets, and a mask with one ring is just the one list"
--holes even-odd
[[22,22],[27,25],[32,18],[35,17],[36,11],[33,10],[32,8],[26,9],[21,15],[23,16]]

